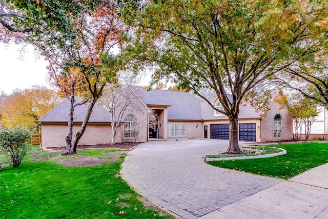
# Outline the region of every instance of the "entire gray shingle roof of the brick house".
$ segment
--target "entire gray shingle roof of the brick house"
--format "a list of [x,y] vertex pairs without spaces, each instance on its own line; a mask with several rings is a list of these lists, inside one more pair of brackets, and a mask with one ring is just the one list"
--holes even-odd
[[[203,99],[197,98],[195,95],[169,90],[146,91],[137,86],[129,86],[144,104],[168,107],[168,120],[224,120],[228,119],[226,115],[214,115],[214,109]],[[81,101],[80,97],[75,97],[76,101]],[[68,116],[67,99],[58,104],[55,108],[41,117],[39,122],[67,122]],[[74,109],[74,122],[83,122],[86,115],[88,104],[79,105]],[[259,113],[255,112],[254,107],[240,106],[239,118],[260,118]],[[90,116],[90,123],[106,123],[111,122],[111,113],[101,106],[94,106]]]

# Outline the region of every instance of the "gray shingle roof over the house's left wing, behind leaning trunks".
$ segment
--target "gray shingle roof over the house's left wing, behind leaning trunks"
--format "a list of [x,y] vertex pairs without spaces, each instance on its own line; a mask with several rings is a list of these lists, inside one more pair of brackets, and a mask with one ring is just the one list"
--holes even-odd
[[[81,97],[75,97],[76,103],[81,101]],[[88,109],[88,103],[76,106],[74,108],[74,122],[83,122],[86,112]],[[65,99],[63,102],[58,104],[44,116],[42,116],[38,122],[64,122],[67,123],[69,101]],[[109,123],[111,122],[111,113],[105,110],[101,106],[95,105],[93,107],[89,123]]]

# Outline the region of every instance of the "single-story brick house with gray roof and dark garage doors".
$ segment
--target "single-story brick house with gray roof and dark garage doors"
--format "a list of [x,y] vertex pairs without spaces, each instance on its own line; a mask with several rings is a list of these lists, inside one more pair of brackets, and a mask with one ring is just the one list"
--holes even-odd
[[[229,140],[228,117],[193,94],[156,89],[146,91],[136,86],[128,90],[132,103],[125,111],[116,142],[146,142],[154,138]],[[277,93],[276,97],[278,95],[282,93]],[[292,117],[288,109],[280,109],[274,99],[265,116],[260,116],[252,106],[240,106],[239,141],[268,142],[293,138]],[[213,104],[221,107],[217,99]],[[81,125],[86,108],[87,105],[75,108],[74,132]],[[42,147],[65,146],[67,115],[68,101],[65,100],[40,118]],[[111,114],[103,107],[95,106],[79,145],[110,143],[111,122]]]

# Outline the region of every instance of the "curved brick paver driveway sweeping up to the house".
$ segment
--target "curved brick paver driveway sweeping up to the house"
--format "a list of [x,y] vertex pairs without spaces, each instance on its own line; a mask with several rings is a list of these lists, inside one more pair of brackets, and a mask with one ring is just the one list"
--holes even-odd
[[131,186],[152,202],[184,218],[198,218],[282,180],[204,163],[226,151],[228,141],[157,141],[142,144],[122,165]]

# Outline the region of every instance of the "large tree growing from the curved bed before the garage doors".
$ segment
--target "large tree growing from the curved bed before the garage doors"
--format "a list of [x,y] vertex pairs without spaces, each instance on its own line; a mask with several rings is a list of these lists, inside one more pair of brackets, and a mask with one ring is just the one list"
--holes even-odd
[[[244,95],[326,47],[326,8],[322,1],[150,1],[129,23],[139,27],[134,45],[140,46],[131,51],[158,66],[153,83],[169,77],[227,115],[227,152],[238,153]],[[213,89],[224,110],[201,88]]]

